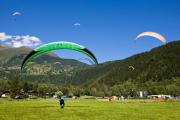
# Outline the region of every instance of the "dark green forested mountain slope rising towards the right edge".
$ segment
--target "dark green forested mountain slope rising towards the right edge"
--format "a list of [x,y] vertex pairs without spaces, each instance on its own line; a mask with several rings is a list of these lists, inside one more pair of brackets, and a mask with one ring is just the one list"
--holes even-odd
[[[89,85],[88,81],[90,81],[93,84],[99,83],[113,86],[129,79],[146,82],[149,80],[163,81],[164,79],[179,77],[179,54],[180,41],[170,42],[165,46],[153,48],[148,52],[101,64],[95,68],[84,70],[84,72],[80,71],[74,75],[74,83],[78,84],[81,81],[85,81],[84,84]],[[130,70],[129,66],[134,66],[135,70]],[[83,76],[82,74],[86,77],[78,79],[77,76]],[[89,74],[90,76],[88,77]]]

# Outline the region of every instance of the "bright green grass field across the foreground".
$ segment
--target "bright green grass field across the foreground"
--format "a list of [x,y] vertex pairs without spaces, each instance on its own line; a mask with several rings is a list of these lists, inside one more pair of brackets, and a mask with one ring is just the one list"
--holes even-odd
[[179,120],[180,102],[0,99],[0,120]]

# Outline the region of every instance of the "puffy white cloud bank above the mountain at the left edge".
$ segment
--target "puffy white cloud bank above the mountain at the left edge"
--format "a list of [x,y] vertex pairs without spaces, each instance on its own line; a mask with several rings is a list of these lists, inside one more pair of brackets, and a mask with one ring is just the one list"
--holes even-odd
[[28,46],[28,47],[35,47],[42,43],[42,41],[36,37],[36,36],[30,36],[30,35],[6,35],[5,33],[0,33],[0,40],[3,44],[11,46],[11,47],[22,47],[22,46]]

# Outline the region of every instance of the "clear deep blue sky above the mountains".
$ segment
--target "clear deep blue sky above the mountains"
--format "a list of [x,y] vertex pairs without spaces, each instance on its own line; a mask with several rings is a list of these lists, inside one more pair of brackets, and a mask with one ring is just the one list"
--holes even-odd
[[[0,0],[0,33],[35,36],[42,43],[75,42],[105,62],[162,45],[151,37],[135,42],[144,31],[158,32],[168,42],[180,39],[179,6],[179,0]],[[12,16],[17,11],[21,15]],[[64,58],[85,57],[55,52]]]

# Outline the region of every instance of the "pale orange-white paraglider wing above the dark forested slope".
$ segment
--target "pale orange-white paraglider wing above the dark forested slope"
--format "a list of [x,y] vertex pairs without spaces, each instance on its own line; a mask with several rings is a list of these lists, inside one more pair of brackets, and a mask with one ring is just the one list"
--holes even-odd
[[166,39],[159,33],[156,33],[156,32],[143,32],[141,34],[139,34],[137,37],[136,37],[136,40],[141,38],[141,37],[144,37],[144,36],[151,36],[151,37],[154,37],[154,38],[157,38],[159,39],[161,42],[163,42],[164,44],[167,44],[167,41]]

